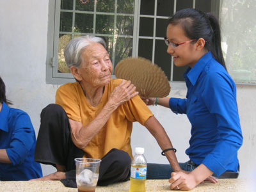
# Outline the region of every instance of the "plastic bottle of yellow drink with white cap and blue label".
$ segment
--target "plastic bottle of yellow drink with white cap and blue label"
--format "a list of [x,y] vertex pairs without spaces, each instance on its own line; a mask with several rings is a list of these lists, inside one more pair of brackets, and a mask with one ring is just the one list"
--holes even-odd
[[131,163],[131,186],[129,192],[145,192],[147,179],[147,161],[144,154],[144,148],[136,147],[135,155]]

